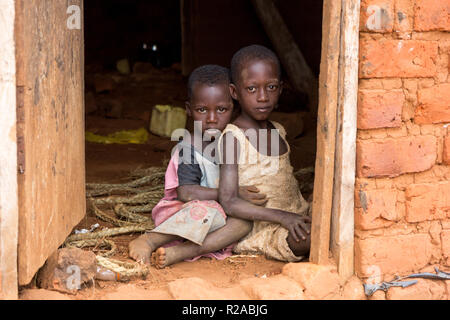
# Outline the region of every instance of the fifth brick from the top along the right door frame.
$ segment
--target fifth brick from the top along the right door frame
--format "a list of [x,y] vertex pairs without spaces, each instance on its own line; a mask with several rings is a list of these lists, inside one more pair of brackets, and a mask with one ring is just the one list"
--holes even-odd
[[355,204],[360,207],[355,211],[355,227],[361,230],[387,227],[400,218],[396,190],[360,190]]

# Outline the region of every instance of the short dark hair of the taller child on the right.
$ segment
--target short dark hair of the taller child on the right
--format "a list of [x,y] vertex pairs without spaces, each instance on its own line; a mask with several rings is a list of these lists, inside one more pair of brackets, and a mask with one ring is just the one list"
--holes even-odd
[[239,79],[241,68],[252,60],[270,60],[277,66],[278,78],[281,78],[280,60],[277,55],[264,46],[253,44],[238,50],[231,59],[231,81],[236,83]]

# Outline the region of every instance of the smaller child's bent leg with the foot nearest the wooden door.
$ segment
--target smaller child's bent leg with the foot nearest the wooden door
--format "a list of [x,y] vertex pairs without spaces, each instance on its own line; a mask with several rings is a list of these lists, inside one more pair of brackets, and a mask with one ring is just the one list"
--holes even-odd
[[150,263],[150,256],[157,248],[181,238],[171,234],[149,232],[134,239],[128,245],[129,255],[136,261]]

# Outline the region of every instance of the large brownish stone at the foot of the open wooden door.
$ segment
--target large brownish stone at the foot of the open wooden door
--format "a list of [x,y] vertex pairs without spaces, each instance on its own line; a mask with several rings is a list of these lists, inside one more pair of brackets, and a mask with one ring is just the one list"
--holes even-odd
[[96,273],[97,260],[93,252],[63,248],[39,269],[36,283],[42,289],[73,293],[81,288],[81,284],[94,279]]

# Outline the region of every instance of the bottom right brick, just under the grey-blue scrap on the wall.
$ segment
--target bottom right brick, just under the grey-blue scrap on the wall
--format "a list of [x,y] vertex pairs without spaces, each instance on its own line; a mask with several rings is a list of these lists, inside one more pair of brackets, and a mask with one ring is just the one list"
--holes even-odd
[[[433,272],[434,273],[434,272]],[[413,280],[413,279],[410,279]],[[425,279],[417,280],[412,286],[401,288],[392,287],[386,293],[387,300],[442,300],[446,297],[443,281]]]

